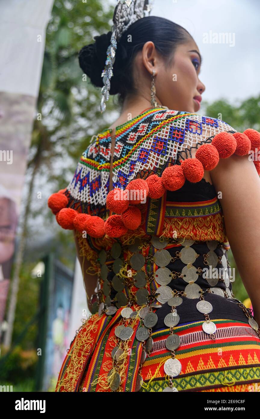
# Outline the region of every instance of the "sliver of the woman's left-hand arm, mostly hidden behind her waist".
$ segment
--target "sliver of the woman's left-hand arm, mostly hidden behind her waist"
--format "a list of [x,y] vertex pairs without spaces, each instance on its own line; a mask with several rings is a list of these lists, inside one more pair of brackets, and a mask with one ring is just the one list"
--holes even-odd
[[94,294],[94,290],[97,286],[97,274],[94,272],[91,261],[87,260],[87,257],[84,258],[83,256],[80,255],[79,242],[78,242],[78,238],[76,236],[75,230],[74,230],[74,240],[76,243],[77,256],[78,256],[79,263],[82,269],[84,286],[87,293],[87,305],[88,305],[89,310],[91,311],[91,305],[89,304],[89,300],[92,294]]

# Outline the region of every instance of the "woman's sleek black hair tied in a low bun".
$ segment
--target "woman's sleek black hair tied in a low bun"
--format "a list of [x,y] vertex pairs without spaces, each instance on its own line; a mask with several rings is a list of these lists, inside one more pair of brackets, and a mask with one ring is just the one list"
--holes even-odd
[[[95,36],[95,43],[86,45],[79,52],[79,65],[97,87],[103,87],[101,77],[107,59],[112,32]],[[127,94],[135,93],[133,83],[133,62],[135,54],[143,49],[147,41],[152,41],[155,48],[166,58],[166,66],[172,61],[176,47],[192,39],[186,29],[168,19],[147,16],[129,26],[117,43],[113,77],[110,80],[110,95],[119,94],[122,104]]]

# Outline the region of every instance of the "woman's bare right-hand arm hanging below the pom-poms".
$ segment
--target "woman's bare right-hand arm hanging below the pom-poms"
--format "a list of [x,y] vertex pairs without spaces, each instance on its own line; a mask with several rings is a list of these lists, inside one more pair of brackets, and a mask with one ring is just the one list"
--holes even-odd
[[220,159],[210,172],[230,248],[260,326],[260,178],[248,155]]

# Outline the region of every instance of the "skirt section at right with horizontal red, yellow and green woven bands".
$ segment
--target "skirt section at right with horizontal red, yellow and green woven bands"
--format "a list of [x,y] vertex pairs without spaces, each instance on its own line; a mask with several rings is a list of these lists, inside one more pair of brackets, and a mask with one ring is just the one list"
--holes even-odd
[[[178,391],[250,392],[260,389],[260,339],[248,323],[213,319],[217,331],[210,338],[203,321],[181,323],[174,328],[181,344],[175,351],[181,372],[172,379]],[[160,392],[168,386],[163,369],[170,357],[165,346],[169,329],[153,333],[153,349],[143,363],[140,391]]]

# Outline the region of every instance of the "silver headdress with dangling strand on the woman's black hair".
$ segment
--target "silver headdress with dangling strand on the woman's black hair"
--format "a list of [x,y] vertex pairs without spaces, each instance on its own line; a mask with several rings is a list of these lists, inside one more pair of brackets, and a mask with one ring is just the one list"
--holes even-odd
[[104,84],[101,89],[101,112],[105,111],[105,102],[108,101],[110,96],[110,79],[113,76],[113,64],[115,62],[117,42],[132,23],[138,19],[144,18],[150,14],[150,11],[151,5],[149,5],[149,0],[118,0],[113,16],[114,26],[112,28],[110,46],[107,48],[107,60],[101,74]]

